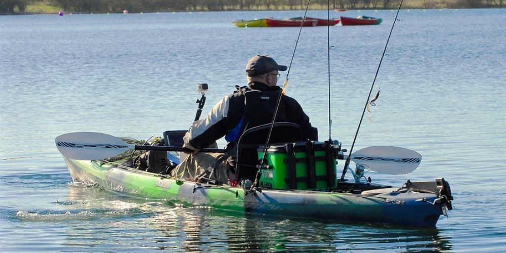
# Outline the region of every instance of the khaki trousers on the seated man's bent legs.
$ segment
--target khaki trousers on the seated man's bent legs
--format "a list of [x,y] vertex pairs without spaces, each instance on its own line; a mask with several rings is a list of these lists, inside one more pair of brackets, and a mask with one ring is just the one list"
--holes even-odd
[[[228,179],[234,179],[235,174],[230,170],[227,159],[223,159],[224,154],[200,152],[196,155],[188,155],[181,163],[174,168],[171,176],[181,179],[195,179],[202,174],[206,168],[209,168],[209,179],[228,184]],[[218,159],[223,161],[218,161]],[[214,168],[214,169],[212,169]]]

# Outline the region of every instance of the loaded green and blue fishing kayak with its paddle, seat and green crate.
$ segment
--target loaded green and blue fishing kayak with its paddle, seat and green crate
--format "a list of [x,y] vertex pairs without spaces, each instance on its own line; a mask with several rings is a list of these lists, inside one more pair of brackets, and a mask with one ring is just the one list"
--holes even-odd
[[[272,134],[272,143],[265,146],[267,131]],[[421,162],[419,153],[401,147],[372,146],[345,155],[347,150],[341,149],[339,141],[298,141],[303,136],[302,128],[290,122],[273,126],[268,123],[244,131],[235,145],[237,179],[216,182],[207,172],[193,180],[174,178],[169,172],[181,157],[173,153],[189,151],[181,147],[184,132],[165,131],[163,139],[155,138],[150,145],[132,138],[77,132],[58,136],[55,144],[75,182],[95,183],[111,191],[187,206],[413,227],[434,227],[439,217],[452,209],[450,186],[442,178],[429,182],[408,180],[401,187],[392,187],[372,183],[364,176],[369,171],[408,174]],[[143,145],[134,145],[140,143]],[[132,159],[135,152],[141,154]],[[200,152],[227,154],[218,148],[202,148]],[[139,157],[154,166],[139,166],[143,164]],[[347,167],[354,180],[344,178],[346,171],[341,178],[337,176],[338,160],[345,159],[348,165],[341,167]],[[165,169],[156,166],[167,161],[172,165]],[[355,170],[349,167],[350,161],[355,163]]]

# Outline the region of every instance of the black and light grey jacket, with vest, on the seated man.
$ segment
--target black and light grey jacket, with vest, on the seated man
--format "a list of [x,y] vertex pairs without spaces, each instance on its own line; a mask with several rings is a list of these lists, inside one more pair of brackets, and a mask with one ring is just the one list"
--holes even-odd
[[[204,119],[193,122],[184,142],[195,148],[207,147],[223,136],[228,142],[235,142],[245,129],[272,122],[280,92],[279,86],[249,83],[248,87],[225,96]],[[304,139],[318,139],[308,115],[293,98],[282,96],[276,121],[296,123],[301,126]]]

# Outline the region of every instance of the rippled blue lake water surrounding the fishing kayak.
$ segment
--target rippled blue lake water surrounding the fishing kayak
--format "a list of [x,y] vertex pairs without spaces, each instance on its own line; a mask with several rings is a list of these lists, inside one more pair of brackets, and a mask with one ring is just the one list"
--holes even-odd
[[[449,181],[454,209],[436,228],[235,214],[72,183],[56,136],[146,139],[188,129],[200,97],[196,83],[209,84],[208,111],[245,85],[250,57],[290,62],[298,28],[236,28],[231,21],[303,14],[0,16],[0,251],[506,248],[504,9],[402,10],[373,91],[381,87],[381,96],[361,126],[354,150],[401,146],[424,157],[409,175],[369,173],[373,182]],[[330,27],[331,134],[349,148],[395,12],[342,14],[384,19],[379,26]],[[287,90],[320,139],[328,138],[326,32],[302,30]]]

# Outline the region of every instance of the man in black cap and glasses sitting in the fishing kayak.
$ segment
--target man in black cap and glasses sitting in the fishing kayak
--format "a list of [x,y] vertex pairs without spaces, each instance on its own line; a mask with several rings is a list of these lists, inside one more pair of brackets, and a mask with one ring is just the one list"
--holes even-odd
[[[237,91],[225,96],[204,119],[192,123],[183,138],[183,147],[193,152],[174,168],[171,176],[195,180],[199,175],[208,174],[206,178],[221,183],[237,180],[233,157],[220,153],[199,153],[199,149],[216,145],[216,141],[223,136],[230,149],[235,146],[244,130],[271,123],[282,90],[277,86],[279,71],[286,69],[286,66],[277,64],[268,55],[257,55],[249,59],[245,70],[248,85],[240,88],[236,86]],[[293,98],[282,96],[276,121],[300,125],[304,140],[318,139],[316,128],[311,126],[308,115]]]

